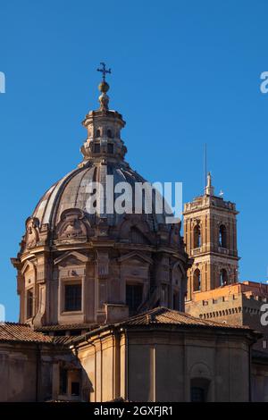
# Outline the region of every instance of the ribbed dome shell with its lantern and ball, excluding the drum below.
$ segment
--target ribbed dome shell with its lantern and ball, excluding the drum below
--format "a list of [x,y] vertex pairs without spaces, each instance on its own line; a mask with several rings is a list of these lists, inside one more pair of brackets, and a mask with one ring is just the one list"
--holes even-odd
[[[125,161],[124,156],[127,148],[121,139],[121,129],[125,126],[125,122],[121,113],[109,109],[109,97],[106,95],[109,90],[108,83],[103,81],[98,88],[101,91],[100,107],[96,111],[89,112],[82,122],[88,131],[88,137],[80,148],[84,157],[83,161],[77,169],[69,172],[46,191],[38,202],[32,219],[38,223],[39,227],[47,225],[49,231],[54,232],[58,223],[61,222],[63,212],[68,209],[70,211],[71,209],[80,210],[91,227],[96,226],[100,220],[102,223],[105,220],[109,226],[116,226],[121,223],[126,214],[131,212],[132,214],[141,214],[148,229],[156,232],[158,225],[164,224],[165,217],[168,215],[165,214],[166,203],[162,212],[156,210],[156,200],[159,203],[159,200],[163,201],[163,197],[154,190],[151,200],[152,211],[146,211],[146,201],[142,196],[139,196],[141,204],[138,205],[135,191],[138,183],[144,183],[146,180],[138,172],[133,171],[130,164]],[[108,182],[109,185],[107,185]],[[129,211],[120,213],[114,211],[114,204],[116,198],[120,196],[116,188],[120,187],[123,182],[128,184],[131,191],[126,192],[124,200]],[[94,183],[97,183],[96,189],[93,188]],[[150,184],[147,183],[147,185]],[[107,192],[107,188],[109,188],[109,192]],[[103,197],[100,197],[101,193]],[[144,192],[142,194],[144,195]],[[104,208],[99,211],[97,208],[94,209],[94,202],[97,199],[98,203],[105,204]],[[110,200],[109,203],[107,203],[108,200]],[[108,204],[110,206],[106,206]],[[170,226],[166,226],[166,228],[169,229]],[[54,234],[51,239],[53,237]]]

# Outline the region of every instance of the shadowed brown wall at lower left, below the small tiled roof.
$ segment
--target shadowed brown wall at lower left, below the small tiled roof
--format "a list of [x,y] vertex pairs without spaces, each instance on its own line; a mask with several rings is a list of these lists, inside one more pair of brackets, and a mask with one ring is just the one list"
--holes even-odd
[[0,401],[58,399],[59,365],[72,359],[68,349],[34,342],[0,343]]

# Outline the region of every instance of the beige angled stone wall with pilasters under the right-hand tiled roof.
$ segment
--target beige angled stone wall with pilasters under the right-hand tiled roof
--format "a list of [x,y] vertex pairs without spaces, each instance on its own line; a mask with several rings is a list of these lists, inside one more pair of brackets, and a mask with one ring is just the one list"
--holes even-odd
[[90,401],[189,401],[197,380],[209,384],[208,401],[249,399],[245,332],[149,328],[103,334],[78,346]]

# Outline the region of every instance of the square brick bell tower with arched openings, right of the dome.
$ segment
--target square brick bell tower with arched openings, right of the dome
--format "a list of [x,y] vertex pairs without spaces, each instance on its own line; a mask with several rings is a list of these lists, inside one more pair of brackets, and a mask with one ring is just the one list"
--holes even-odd
[[207,174],[203,196],[184,206],[184,241],[194,263],[188,269],[187,300],[194,293],[238,281],[236,205],[214,195]]

